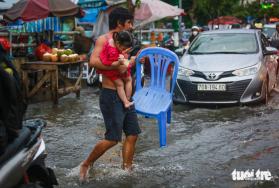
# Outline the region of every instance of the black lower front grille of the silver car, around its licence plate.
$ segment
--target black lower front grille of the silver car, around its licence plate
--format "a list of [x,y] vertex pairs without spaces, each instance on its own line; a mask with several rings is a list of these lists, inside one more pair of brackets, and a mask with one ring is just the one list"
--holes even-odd
[[[198,83],[191,83],[184,80],[177,80],[187,100],[193,101],[239,101],[241,95],[251,82],[242,80],[237,82],[220,83],[226,84],[226,91],[197,91]],[[207,82],[209,83],[209,82]],[[216,82],[215,82],[216,83]]]

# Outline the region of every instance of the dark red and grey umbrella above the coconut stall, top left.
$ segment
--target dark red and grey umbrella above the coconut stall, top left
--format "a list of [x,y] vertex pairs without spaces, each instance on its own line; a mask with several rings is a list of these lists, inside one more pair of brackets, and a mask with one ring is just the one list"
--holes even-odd
[[20,0],[4,13],[7,21],[34,21],[49,16],[83,16],[79,6],[70,0]]

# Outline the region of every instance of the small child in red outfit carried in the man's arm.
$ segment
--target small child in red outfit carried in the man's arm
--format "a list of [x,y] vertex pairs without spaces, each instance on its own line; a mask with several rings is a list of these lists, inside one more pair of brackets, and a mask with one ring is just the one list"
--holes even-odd
[[133,105],[133,102],[130,102],[129,99],[132,95],[131,67],[134,64],[135,57],[132,57],[130,62],[124,58],[125,51],[131,48],[132,43],[133,39],[128,31],[114,32],[112,38],[108,39],[100,53],[100,59],[106,66],[127,66],[125,73],[120,73],[117,70],[99,71],[113,81],[125,108]]

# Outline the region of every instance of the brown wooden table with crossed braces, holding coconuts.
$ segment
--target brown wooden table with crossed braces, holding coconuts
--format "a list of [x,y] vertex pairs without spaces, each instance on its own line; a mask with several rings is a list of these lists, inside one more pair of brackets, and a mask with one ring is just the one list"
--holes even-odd
[[[58,104],[58,99],[71,92],[76,93],[76,97],[80,97],[82,66],[84,61],[77,62],[27,62],[21,65],[23,92],[26,99],[30,99],[43,88],[49,88],[53,104]],[[69,67],[78,67],[79,76],[70,81],[65,72]],[[64,71],[64,74],[63,74]],[[35,79],[35,83],[30,88],[29,73],[40,72],[40,76]],[[62,87],[61,87],[62,85]]]

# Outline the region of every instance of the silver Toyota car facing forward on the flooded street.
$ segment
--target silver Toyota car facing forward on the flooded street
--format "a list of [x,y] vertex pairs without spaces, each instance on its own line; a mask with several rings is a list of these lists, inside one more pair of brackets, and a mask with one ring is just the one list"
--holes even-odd
[[260,31],[203,32],[181,58],[174,102],[267,102],[277,84],[277,59]]

